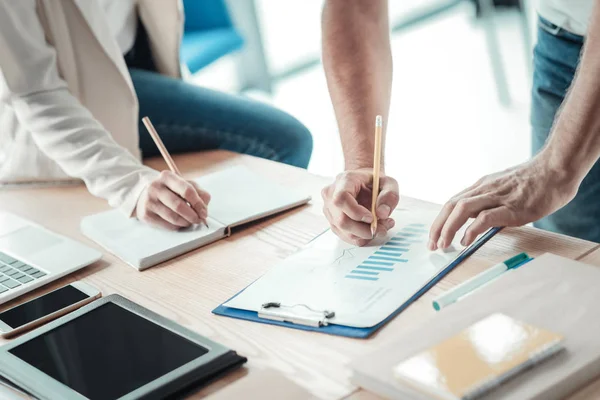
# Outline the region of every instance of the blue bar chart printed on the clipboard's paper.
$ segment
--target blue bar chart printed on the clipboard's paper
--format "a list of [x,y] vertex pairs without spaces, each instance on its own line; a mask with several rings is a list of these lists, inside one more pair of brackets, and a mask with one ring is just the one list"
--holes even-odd
[[411,245],[424,243],[428,230],[424,224],[408,224],[373,252],[355,269],[346,275],[347,279],[377,281],[381,274],[393,272],[407,263]]

